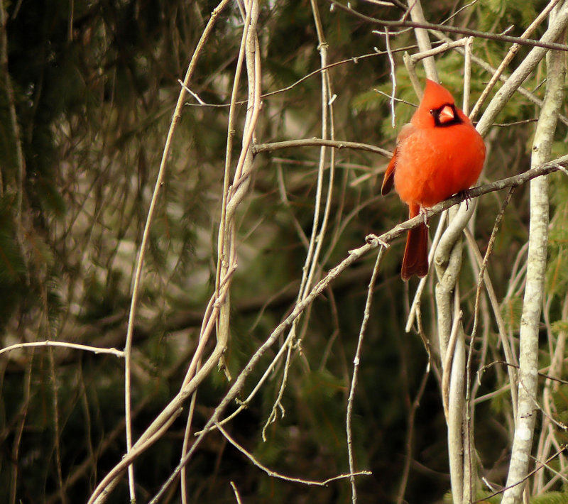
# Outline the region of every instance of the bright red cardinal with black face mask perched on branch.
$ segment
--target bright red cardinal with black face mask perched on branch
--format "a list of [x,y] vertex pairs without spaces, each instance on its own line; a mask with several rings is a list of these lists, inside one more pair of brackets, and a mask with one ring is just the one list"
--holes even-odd
[[[484,167],[485,144],[469,118],[454,104],[447,89],[426,81],[422,101],[410,124],[396,139],[381,193],[393,185],[410,209],[410,218],[425,207],[474,185]],[[408,231],[403,280],[428,273],[428,230],[425,223]]]

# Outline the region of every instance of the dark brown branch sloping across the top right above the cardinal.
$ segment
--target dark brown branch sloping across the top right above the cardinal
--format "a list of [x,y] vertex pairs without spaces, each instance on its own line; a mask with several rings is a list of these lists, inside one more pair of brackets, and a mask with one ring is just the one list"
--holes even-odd
[[344,6],[340,4],[337,0],[329,0],[332,6],[341,9],[342,11],[349,12],[358,18],[364,19],[369,23],[378,24],[381,26],[388,26],[389,28],[424,28],[425,30],[437,30],[444,31],[447,33],[459,33],[460,35],[466,35],[470,37],[486,38],[487,40],[498,40],[500,42],[514,43],[518,45],[530,45],[531,47],[540,47],[545,49],[556,49],[562,51],[568,51],[568,45],[557,44],[557,43],[547,43],[540,42],[540,40],[533,40],[530,38],[520,38],[511,37],[510,35],[500,35],[498,33],[487,33],[485,31],[470,30],[469,28],[459,28],[458,26],[444,26],[434,23],[416,23],[415,21],[407,21],[402,19],[400,21],[386,21],[383,19],[373,18],[371,16],[365,16],[360,12],[354,11],[349,6]]

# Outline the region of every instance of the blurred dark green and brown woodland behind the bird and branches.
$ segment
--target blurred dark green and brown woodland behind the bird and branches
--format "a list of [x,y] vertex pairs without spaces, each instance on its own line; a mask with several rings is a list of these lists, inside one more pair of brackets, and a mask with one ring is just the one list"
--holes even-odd
[[[402,62],[416,52],[411,30],[391,35],[396,62],[395,128],[391,125],[391,65],[378,25],[318,2],[328,60],[334,138],[393,149],[418,99]],[[381,2],[351,2],[361,13],[396,20],[402,11]],[[46,339],[122,349],[133,269],[163,153],[165,137],[190,57],[217,4],[194,0],[20,0],[4,2],[0,39],[0,346]],[[520,35],[545,2],[492,0],[425,3],[432,23]],[[462,9],[464,8],[464,9]],[[453,17],[452,17],[453,16]],[[243,22],[231,4],[219,16],[190,83],[173,140],[165,183],[151,228],[133,339],[133,430],[143,432],[180,387],[195,351],[204,309],[214,291],[217,230],[223,190],[229,99]],[[537,28],[538,38],[545,26]],[[457,38],[458,35],[455,35]],[[307,0],[261,5],[263,109],[258,143],[320,137],[320,53]],[[510,45],[476,39],[474,55],[496,67]],[[514,68],[530,48],[522,47]],[[440,79],[461,103],[463,56],[436,58]],[[544,67],[542,67],[544,69]],[[424,78],[421,68],[419,76]],[[471,105],[491,75],[474,62]],[[544,70],[525,88],[542,98]],[[239,99],[247,97],[241,79]],[[236,138],[246,105],[236,108]],[[566,107],[562,113],[566,113]],[[537,107],[515,94],[486,138],[488,160],[480,183],[528,169]],[[559,124],[555,155],[565,153]],[[235,141],[233,158],[240,142]],[[319,147],[259,153],[254,180],[236,217],[238,269],[231,287],[226,366],[232,378],[292,309],[297,297],[317,190]],[[337,265],[366,234],[381,234],[407,217],[398,197],[380,196],[388,158],[336,150],[331,214],[318,275]],[[547,336],[567,329],[564,313],[568,190],[551,176],[550,274],[542,326],[542,366],[550,363]],[[504,194],[480,199],[476,239],[484,253]],[[488,265],[510,340],[518,336],[523,253],[528,239],[528,190],[519,187],[506,210]],[[435,222],[434,228],[435,228]],[[431,231],[432,234],[432,231]],[[446,426],[439,395],[439,357],[427,373],[427,353],[405,314],[415,280],[400,280],[403,240],[381,265],[354,402],[359,500],[441,502],[449,489]],[[317,298],[298,325],[285,415],[266,429],[278,395],[277,366],[249,407],[226,425],[262,464],[288,476],[325,480],[349,472],[346,401],[374,254],[366,256]],[[475,268],[464,256],[464,326],[471,331]],[[425,332],[435,341],[432,283],[422,298]],[[482,305],[486,309],[486,305]],[[474,368],[502,361],[495,322],[474,344]],[[275,351],[275,350],[274,350]],[[243,398],[274,354],[247,380]],[[264,367],[263,367],[264,366]],[[503,484],[508,467],[511,411],[506,369],[486,368],[476,390],[475,437],[480,473]],[[215,371],[200,385],[199,429],[228,390]],[[506,391],[506,390],[505,390]],[[558,418],[568,410],[565,385],[555,391]],[[491,394],[491,395],[488,395]],[[6,503],[80,503],[126,451],[124,362],[69,349],[18,349],[0,356],[0,500]],[[416,403],[415,403],[416,401]],[[138,459],[136,492],[146,502],[180,459],[185,415]],[[562,440],[562,437],[559,438]],[[405,476],[408,471],[408,477]],[[349,480],[325,487],[280,481],[253,467],[212,432],[190,461],[190,502],[346,503]],[[561,480],[562,481],[562,480]],[[562,490],[556,483],[548,491]],[[109,498],[129,499],[124,478]],[[163,502],[179,502],[173,488]]]

